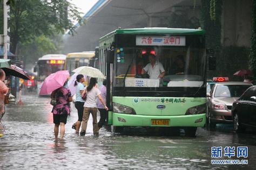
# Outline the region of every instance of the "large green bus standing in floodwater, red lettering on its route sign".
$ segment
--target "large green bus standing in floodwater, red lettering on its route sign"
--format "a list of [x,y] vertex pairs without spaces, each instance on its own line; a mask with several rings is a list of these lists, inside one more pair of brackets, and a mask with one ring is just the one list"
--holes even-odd
[[[206,122],[205,31],[118,29],[99,39],[98,68],[107,77],[108,124],[180,127],[195,136]],[[154,54],[165,75],[142,75]],[[165,130],[168,128],[164,128]]]

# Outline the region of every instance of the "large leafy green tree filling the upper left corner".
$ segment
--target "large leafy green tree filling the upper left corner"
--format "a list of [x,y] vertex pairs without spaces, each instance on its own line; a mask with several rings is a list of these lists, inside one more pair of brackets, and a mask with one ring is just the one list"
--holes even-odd
[[[11,0],[10,51],[16,53],[18,44],[31,42],[35,37],[51,36],[56,31],[70,33],[76,29],[72,20],[84,23],[75,5],[67,0]],[[1,23],[2,24],[2,23]]]

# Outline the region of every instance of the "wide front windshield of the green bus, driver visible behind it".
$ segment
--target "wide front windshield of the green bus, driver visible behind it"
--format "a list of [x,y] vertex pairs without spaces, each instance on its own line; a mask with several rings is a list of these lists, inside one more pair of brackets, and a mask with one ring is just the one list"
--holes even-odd
[[[114,87],[155,87],[158,90],[203,84],[204,48],[151,46],[122,47],[116,51]],[[152,57],[155,62],[150,61]],[[146,74],[142,74],[143,69]],[[161,78],[160,73],[164,74]]]

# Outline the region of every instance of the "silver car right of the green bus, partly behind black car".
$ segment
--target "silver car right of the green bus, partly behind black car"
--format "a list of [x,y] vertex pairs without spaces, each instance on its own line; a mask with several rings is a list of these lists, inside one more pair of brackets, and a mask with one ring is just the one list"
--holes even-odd
[[251,87],[247,82],[218,82],[207,94],[207,124],[215,128],[217,123],[232,123],[232,104]]

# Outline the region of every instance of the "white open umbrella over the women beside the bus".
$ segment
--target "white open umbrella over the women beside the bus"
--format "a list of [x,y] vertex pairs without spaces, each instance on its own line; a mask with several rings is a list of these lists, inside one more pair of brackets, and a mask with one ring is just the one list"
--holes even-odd
[[104,74],[100,72],[99,69],[93,68],[93,67],[88,67],[88,66],[82,66],[74,69],[72,72],[75,72],[77,74],[83,74],[89,77],[95,77],[95,78],[101,78],[101,79],[106,79]]

